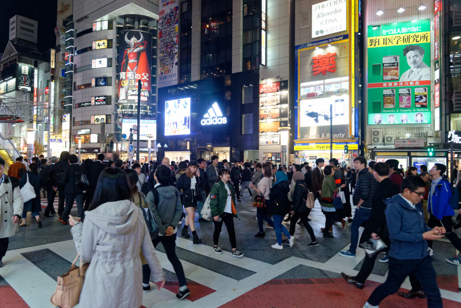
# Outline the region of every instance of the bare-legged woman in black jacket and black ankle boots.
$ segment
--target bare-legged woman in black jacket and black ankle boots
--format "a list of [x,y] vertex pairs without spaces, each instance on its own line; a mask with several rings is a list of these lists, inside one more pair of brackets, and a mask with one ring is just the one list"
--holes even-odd
[[189,166],[187,166],[186,173],[183,174],[176,183],[176,188],[178,189],[178,191],[182,191],[182,205],[184,206],[184,210],[187,213],[181,235],[185,238],[189,238],[190,235],[187,232],[187,228],[190,226],[190,231],[192,231],[193,237],[192,242],[194,244],[201,243],[201,239],[198,237],[194,225],[194,212],[197,208],[197,201],[200,195],[200,191],[198,189],[200,174],[198,174],[197,172],[198,163],[196,161],[190,162]]

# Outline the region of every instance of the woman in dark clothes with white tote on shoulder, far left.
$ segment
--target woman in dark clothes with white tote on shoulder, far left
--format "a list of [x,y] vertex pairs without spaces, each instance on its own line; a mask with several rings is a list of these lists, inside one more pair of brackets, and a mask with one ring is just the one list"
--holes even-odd
[[42,206],[40,202],[40,179],[42,178],[39,174],[39,165],[36,163],[32,163],[29,165],[29,171],[27,172],[27,176],[23,176],[21,180],[19,181],[19,187],[23,188],[24,185],[26,185],[27,180],[29,179],[29,183],[34,187],[35,191],[35,198],[24,202],[24,208],[23,208],[23,215],[21,216],[23,222],[20,224],[20,226],[25,227],[27,226],[26,223],[26,217],[27,217],[27,212],[32,212],[32,216],[35,217],[37,220],[37,224],[39,228],[42,228],[42,220],[40,219],[40,212],[42,211]]

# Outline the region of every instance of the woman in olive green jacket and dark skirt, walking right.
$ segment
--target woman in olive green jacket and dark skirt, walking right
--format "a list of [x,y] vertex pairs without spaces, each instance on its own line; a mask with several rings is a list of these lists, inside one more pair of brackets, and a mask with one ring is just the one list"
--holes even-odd
[[337,216],[336,209],[333,205],[333,198],[336,190],[335,179],[333,178],[333,167],[326,166],[323,173],[325,174],[325,179],[322,184],[320,205],[325,215],[325,229],[323,229],[322,233],[324,237],[334,237],[328,232],[336,221]]

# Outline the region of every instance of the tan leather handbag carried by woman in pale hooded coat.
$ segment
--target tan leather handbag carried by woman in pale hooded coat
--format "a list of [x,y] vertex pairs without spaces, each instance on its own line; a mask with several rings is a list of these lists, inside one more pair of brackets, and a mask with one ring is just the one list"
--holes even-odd
[[77,254],[71,269],[62,276],[58,276],[58,286],[56,291],[51,296],[51,303],[59,308],[72,308],[79,303],[80,292],[82,292],[83,280],[85,272],[90,263],[83,264],[80,260],[80,266],[75,268],[75,262],[79,258]]

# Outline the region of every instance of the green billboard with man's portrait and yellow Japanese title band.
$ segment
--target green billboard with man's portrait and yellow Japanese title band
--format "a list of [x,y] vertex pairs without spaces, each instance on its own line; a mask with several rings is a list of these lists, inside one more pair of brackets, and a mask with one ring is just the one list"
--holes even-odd
[[367,49],[368,125],[430,123],[430,20],[368,26]]

